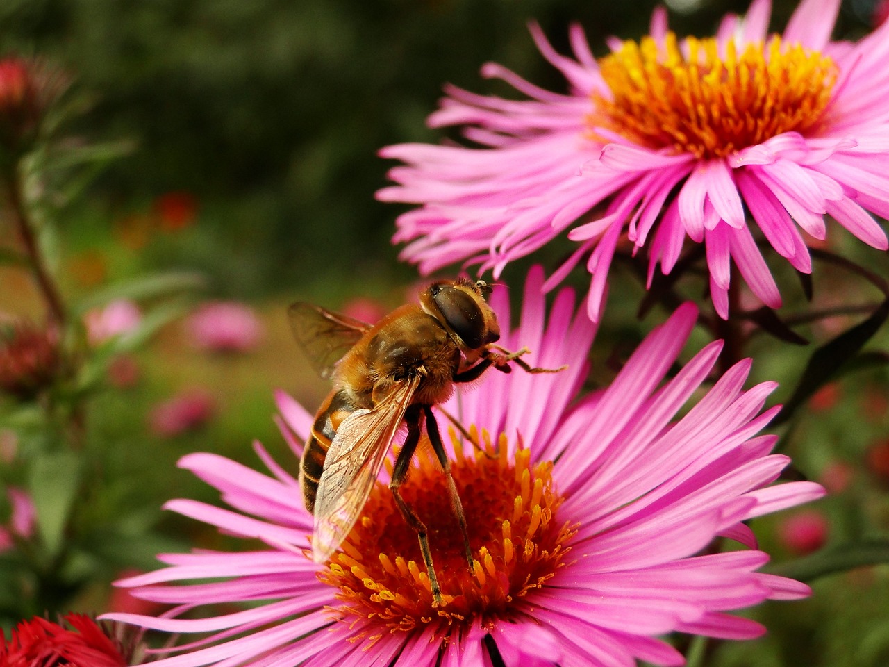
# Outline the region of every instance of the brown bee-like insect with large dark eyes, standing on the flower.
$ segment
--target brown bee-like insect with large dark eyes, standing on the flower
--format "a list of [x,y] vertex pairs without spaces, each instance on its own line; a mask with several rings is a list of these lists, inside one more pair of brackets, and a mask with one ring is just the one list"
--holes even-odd
[[521,358],[527,349],[509,352],[493,345],[500,339],[500,326],[485,301],[488,292],[481,280],[441,280],[420,293],[420,305],[401,306],[375,325],[309,303],[291,306],[297,341],[316,370],[333,381],[300,461],[300,486],[306,508],[315,517],[316,562],[330,559],[355,525],[404,422],[407,435],[389,489],[418,535],[433,598],[436,605],[442,604],[426,526],[399,492],[425,422],[445,473],[471,571],[466,518],[432,406],[451,396],[455,382],[472,382],[492,366],[504,373],[511,370],[509,362],[529,373],[561,370],[529,366]]

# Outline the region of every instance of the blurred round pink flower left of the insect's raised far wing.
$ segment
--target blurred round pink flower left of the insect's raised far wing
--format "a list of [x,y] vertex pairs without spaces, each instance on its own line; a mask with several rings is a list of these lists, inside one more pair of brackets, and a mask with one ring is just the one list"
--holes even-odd
[[236,301],[204,303],[186,323],[192,343],[214,352],[247,352],[260,341],[262,326],[253,310]]

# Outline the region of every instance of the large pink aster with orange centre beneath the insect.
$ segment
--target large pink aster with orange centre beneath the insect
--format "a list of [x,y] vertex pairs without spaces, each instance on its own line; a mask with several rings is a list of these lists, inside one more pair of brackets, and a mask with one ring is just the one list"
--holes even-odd
[[[607,389],[581,396],[594,325],[575,314],[569,290],[546,317],[542,280],[533,270],[512,331],[506,294],[495,290],[501,340],[530,347],[529,363],[568,370],[489,372],[443,406],[481,434],[473,446],[451,430],[447,445],[469,521],[471,574],[437,462],[418,456],[401,487],[428,526],[443,607],[433,607],[416,534],[385,473],[341,550],[319,565],[308,552],[312,517],[287,471],[296,463],[282,467],[257,445],[271,476],[215,454],[180,462],[219,489],[230,509],[189,500],[167,508],[264,546],[165,554],[164,569],[119,582],[179,613],[250,607],[204,610],[200,619],[108,618],[209,633],[155,667],[678,665],[682,655],[657,636],[760,635],[758,623],[726,612],[809,589],[757,573],[768,556],[742,522],[823,494],[811,482],[769,486],[788,463],[769,454],[776,438],[757,435],[775,414],[760,413],[773,383],[743,390],[750,363],[742,361],[677,417],[720,349],[711,343],[666,379],[696,319],[686,304]],[[285,436],[300,454],[313,417],[292,398],[278,401]],[[717,535],[748,548],[709,552]]]

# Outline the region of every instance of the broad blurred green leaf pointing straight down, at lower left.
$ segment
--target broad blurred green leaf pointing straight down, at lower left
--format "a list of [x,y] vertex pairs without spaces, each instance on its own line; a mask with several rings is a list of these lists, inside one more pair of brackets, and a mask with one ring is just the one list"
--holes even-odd
[[37,530],[52,556],[64,542],[80,486],[80,460],[71,452],[41,454],[31,462],[29,472],[28,491],[37,513]]

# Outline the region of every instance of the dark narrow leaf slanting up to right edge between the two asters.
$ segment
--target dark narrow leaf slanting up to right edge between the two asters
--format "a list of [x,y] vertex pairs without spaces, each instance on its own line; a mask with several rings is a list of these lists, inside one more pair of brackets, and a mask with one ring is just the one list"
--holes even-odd
[[797,383],[797,388],[774,418],[774,424],[786,422],[799,406],[805,404],[815,391],[837,374],[840,367],[858,354],[861,347],[889,317],[889,299],[883,301],[866,320],[851,329],[840,333],[833,340],[815,350],[805,371]]

